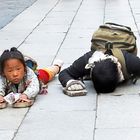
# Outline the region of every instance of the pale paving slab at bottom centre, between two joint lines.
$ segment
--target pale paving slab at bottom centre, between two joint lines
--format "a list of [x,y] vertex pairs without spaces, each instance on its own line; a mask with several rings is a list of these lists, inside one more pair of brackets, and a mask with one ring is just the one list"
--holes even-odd
[[[92,140],[94,112],[48,112],[27,115],[15,140]],[[44,129],[45,128],[45,129]]]

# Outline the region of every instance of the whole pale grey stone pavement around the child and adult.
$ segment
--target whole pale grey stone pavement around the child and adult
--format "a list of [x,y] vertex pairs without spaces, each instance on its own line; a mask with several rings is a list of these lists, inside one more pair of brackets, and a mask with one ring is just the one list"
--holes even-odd
[[[0,30],[0,51],[15,46],[39,67],[60,58],[65,68],[104,22],[130,26],[139,46],[139,0],[37,0]],[[86,85],[87,96],[68,97],[56,77],[31,108],[0,110],[0,140],[140,140],[140,81],[99,96]]]

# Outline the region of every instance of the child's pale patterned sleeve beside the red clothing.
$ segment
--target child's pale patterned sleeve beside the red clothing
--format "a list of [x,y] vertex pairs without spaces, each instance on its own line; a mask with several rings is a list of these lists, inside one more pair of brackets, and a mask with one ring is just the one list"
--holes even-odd
[[23,94],[27,95],[29,99],[36,97],[39,93],[39,81],[33,70],[27,67],[26,90]]

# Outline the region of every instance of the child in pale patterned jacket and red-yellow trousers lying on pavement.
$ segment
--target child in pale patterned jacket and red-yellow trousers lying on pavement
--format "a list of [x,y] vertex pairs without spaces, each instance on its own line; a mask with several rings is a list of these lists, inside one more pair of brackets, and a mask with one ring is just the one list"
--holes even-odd
[[0,109],[7,107],[6,100],[11,100],[12,107],[17,108],[33,105],[42,84],[46,85],[52,80],[59,73],[61,65],[62,61],[56,60],[52,66],[36,70],[36,74],[26,66],[20,51],[14,47],[5,50],[0,57]]

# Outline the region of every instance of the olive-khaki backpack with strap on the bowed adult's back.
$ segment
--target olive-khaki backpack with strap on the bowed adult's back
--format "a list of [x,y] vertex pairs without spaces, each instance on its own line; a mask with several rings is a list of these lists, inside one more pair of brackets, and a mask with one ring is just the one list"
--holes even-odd
[[125,79],[130,79],[130,77],[132,79],[133,76],[127,73],[125,58],[121,51],[125,50],[137,55],[136,37],[130,27],[109,22],[99,26],[97,31],[93,33],[91,50],[111,50],[122,65]]

